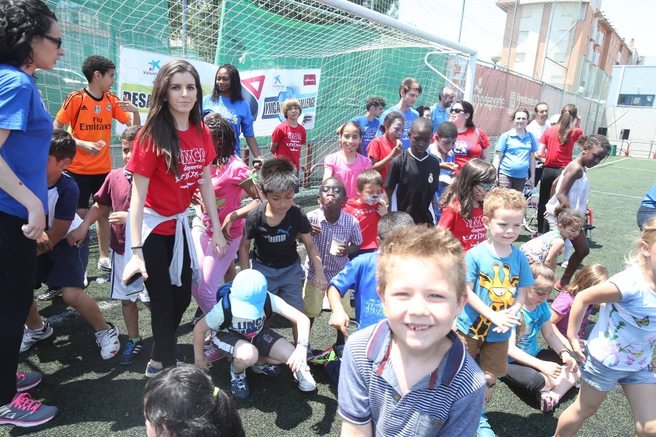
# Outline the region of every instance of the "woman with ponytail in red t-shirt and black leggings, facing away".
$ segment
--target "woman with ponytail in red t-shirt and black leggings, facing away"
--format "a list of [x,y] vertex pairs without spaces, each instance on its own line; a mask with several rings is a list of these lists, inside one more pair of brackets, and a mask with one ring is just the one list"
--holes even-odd
[[581,117],[577,115],[575,105],[565,105],[560,111],[558,124],[547,128],[540,138],[538,156],[546,158],[540,178],[540,199],[537,204],[537,232],[531,237],[538,237],[549,230],[549,223],[544,220],[546,202],[551,197],[551,186],[563,169],[572,160],[574,143],[583,135],[579,128]]

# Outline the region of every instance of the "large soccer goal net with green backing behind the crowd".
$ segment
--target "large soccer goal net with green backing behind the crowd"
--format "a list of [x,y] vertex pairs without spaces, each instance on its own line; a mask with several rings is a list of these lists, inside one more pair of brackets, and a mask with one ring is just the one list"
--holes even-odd
[[[432,105],[449,83],[445,77],[464,89],[469,60],[448,44],[314,0],[189,0],[184,8],[180,1],[160,0],[47,3],[59,19],[66,50],[54,71],[37,72],[52,115],[68,92],[86,85],[85,57],[100,54],[119,66],[121,47],[234,64],[242,75],[320,69],[316,119],[301,158],[306,181],[315,183],[310,168],[338,149],[335,130],[365,112],[368,96],[395,105],[401,81],[414,77],[423,88],[417,105]],[[214,78],[201,79],[211,89]],[[268,154],[270,136],[255,135]]]

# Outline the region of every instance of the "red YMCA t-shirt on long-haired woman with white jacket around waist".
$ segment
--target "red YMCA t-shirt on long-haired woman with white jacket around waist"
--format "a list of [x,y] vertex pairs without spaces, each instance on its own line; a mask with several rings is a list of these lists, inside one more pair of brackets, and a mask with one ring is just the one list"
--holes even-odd
[[[147,143],[137,136],[134,150],[125,168],[132,173],[150,178],[146,206],[162,216],[174,216],[189,208],[198,180],[203,176],[203,168],[216,158],[212,137],[205,124],[201,132],[190,125],[184,132],[178,130],[180,138],[180,177],[176,178],[167,169],[163,155],[157,156],[152,149],[146,150]],[[212,181],[205,181],[212,183]],[[175,221],[169,220],[153,229],[155,234],[174,235]]]

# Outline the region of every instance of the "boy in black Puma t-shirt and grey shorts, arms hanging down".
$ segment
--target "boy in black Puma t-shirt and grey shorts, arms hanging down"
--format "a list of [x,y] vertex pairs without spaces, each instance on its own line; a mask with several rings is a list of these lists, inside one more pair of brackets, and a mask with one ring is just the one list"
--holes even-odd
[[[266,278],[268,291],[281,297],[292,307],[303,311],[300,258],[296,251],[296,237],[305,244],[314,265],[317,290],[325,293],[328,283],[323,274],[319,251],[312,241],[312,226],[303,208],[294,204],[298,184],[296,167],[285,158],[267,159],[260,170],[262,193],[267,202],[246,216],[244,237],[239,245],[239,265],[249,268],[249,249],[253,246],[253,269]],[[292,326],[295,341],[297,327]],[[307,347],[308,339],[302,339]]]

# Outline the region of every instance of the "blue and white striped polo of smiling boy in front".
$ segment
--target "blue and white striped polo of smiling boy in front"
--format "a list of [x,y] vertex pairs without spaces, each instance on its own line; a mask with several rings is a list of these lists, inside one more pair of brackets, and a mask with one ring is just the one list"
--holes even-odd
[[485,377],[451,331],[440,365],[401,396],[390,361],[387,320],[349,337],[340,377],[339,413],[354,425],[372,423],[379,436],[472,436],[483,408]]

